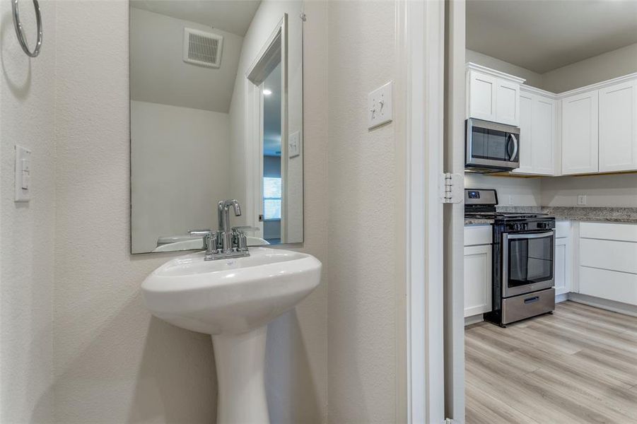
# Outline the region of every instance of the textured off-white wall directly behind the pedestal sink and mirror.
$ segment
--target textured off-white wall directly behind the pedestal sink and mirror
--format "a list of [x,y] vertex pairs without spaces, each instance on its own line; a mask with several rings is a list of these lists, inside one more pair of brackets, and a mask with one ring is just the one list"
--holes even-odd
[[[305,88],[325,100],[320,16],[305,25],[318,52],[305,56]],[[153,319],[141,302],[141,281],[174,255],[129,254],[128,3],[62,1],[57,30],[55,422],[214,423],[209,336]],[[303,250],[326,261],[325,102],[309,102],[305,117],[313,159],[305,168]],[[273,422],[327,419],[326,290],[324,278],[269,328]]]

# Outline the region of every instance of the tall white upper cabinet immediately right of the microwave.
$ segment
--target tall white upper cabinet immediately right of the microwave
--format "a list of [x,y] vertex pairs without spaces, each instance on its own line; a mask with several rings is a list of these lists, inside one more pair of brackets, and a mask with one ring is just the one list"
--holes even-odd
[[520,90],[520,167],[514,173],[555,175],[555,105],[540,90]]

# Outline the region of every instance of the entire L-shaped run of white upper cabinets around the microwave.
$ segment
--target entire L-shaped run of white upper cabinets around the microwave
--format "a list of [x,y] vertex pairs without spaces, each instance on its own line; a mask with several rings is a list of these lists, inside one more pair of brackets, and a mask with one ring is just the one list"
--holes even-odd
[[467,119],[520,127],[520,175],[637,171],[637,73],[554,94],[467,64]]

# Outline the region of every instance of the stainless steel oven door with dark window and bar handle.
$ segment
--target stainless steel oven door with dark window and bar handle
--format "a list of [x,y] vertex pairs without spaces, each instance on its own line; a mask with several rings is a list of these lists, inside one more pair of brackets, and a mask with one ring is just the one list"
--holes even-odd
[[555,232],[504,232],[502,235],[502,296],[551,288],[555,277]]

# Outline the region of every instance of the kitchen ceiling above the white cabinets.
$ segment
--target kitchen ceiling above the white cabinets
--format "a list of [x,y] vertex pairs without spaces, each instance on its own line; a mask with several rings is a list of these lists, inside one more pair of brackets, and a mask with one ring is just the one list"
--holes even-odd
[[637,0],[467,0],[467,49],[537,73],[637,42]]

